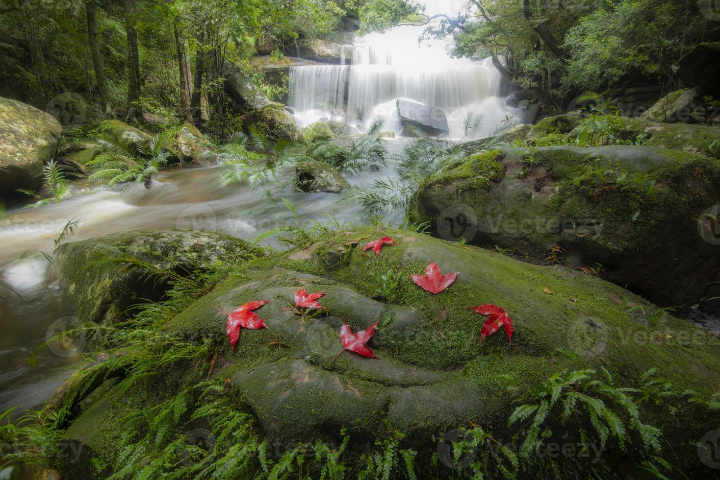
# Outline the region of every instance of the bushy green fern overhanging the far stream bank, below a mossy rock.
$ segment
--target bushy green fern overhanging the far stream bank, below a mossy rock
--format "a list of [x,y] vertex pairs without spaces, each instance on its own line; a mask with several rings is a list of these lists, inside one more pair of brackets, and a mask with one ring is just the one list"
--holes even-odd
[[170,152],[164,149],[165,139],[157,134],[150,142],[123,144],[113,139],[99,139],[102,152],[86,164],[96,169],[91,180],[102,180],[105,188],[125,183],[122,190],[132,183],[150,188],[153,175],[156,175],[168,162]]

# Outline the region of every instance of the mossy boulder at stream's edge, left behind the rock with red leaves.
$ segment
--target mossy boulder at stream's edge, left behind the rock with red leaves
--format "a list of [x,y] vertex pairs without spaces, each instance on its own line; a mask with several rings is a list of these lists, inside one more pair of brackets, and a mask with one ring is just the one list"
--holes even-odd
[[55,268],[78,318],[114,323],[134,305],[162,297],[163,271],[187,276],[216,262],[261,254],[246,241],[214,232],[127,232],[62,244],[55,251]]

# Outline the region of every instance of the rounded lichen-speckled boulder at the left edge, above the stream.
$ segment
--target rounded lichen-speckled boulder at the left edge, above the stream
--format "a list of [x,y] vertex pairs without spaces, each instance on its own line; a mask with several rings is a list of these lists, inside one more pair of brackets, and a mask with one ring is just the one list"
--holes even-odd
[[63,127],[52,115],[0,97],[0,195],[34,189],[55,156]]

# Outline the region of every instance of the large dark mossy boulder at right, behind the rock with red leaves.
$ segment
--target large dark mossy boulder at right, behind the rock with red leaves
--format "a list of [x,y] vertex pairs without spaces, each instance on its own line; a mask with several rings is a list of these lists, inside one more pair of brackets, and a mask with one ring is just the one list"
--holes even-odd
[[504,148],[426,181],[410,217],[447,239],[554,257],[689,307],[720,268],[717,246],[698,233],[698,216],[718,203],[714,158],[626,145]]

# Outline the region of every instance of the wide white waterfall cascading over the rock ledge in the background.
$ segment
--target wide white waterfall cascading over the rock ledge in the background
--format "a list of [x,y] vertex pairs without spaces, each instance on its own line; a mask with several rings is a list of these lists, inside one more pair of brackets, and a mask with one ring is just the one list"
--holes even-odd
[[[397,27],[370,34],[351,48],[352,65],[306,65],[290,69],[289,105],[299,126],[330,119],[364,125],[383,120],[400,134],[398,98],[442,109],[450,138],[464,136],[464,120],[482,119],[475,137],[492,135],[517,109],[503,104],[503,79],[487,58],[475,62],[449,56],[449,42],[418,43],[423,27]],[[342,47],[341,63],[345,60]]]

